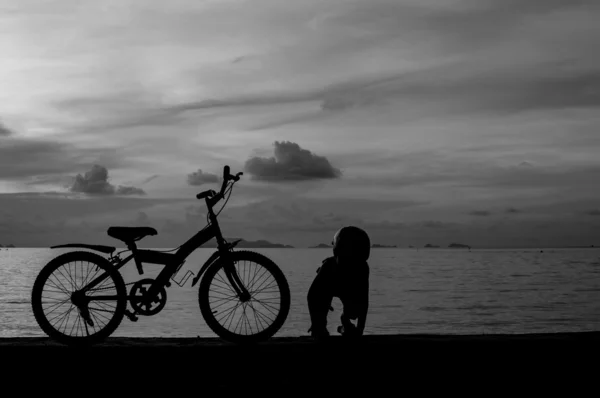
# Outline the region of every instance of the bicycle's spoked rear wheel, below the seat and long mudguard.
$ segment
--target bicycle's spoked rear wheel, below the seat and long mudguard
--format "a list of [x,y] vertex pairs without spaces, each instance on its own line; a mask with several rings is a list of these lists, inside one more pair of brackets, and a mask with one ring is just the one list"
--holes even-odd
[[[107,278],[86,293],[83,304],[81,298],[73,300],[73,293],[102,275]],[[123,320],[127,291],[121,274],[105,258],[76,251],[56,257],[40,271],[31,305],[38,325],[49,337],[68,345],[95,344],[110,336]]]

